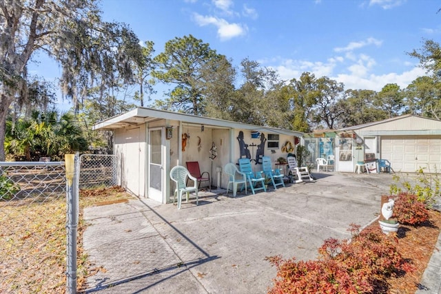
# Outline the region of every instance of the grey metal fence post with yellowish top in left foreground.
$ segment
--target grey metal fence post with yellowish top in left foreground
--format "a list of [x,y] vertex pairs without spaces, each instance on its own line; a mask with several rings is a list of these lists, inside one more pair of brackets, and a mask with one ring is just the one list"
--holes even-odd
[[79,216],[79,155],[65,155],[67,200],[67,293],[76,293],[76,231]]

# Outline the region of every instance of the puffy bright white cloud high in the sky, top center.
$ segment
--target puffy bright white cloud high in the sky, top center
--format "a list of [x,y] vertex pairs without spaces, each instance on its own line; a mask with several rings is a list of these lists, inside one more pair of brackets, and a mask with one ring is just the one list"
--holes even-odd
[[205,17],[201,14],[194,13],[194,20],[198,25],[214,25],[218,28],[218,36],[221,40],[229,40],[236,36],[245,35],[248,31],[246,25],[239,23],[228,23],[225,19],[217,17]]

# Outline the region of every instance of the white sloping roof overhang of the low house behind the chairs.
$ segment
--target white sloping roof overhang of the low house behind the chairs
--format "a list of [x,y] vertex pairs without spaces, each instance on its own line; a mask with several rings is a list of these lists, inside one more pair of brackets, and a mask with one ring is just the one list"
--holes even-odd
[[194,116],[192,114],[182,114],[178,112],[169,112],[166,110],[158,110],[152,108],[139,107],[130,112],[114,116],[107,120],[103,120],[92,127],[93,130],[114,130],[121,129],[130,125],[141,125],[143,123],[155,120],[178,120],[183,124],[204,125],[212,128],[232,128],[247,129],[254,132],[267,132],[273,134],[283,134],[287,136],[303,137],[302,132],[290,131],[288,129],[278,129],[275,127],[262,127],[258,125],[248,125],[245,123],[236,123],[230,120],[221,120],[218,118],[207,118],[204,116]]

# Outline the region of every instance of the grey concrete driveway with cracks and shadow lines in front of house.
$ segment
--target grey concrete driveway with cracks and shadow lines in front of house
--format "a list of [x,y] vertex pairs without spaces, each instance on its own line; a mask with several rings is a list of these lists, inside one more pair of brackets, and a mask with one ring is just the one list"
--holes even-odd
[[[266,293],[266,257],[309,260],[327,238],[365,227],[389,194],[389,174],[314,174],[316,182],[256,195],[201,193],[199,205],[151,200],[84,210],[85,252],[99,271],[88,293]],[[217,194],[215,194],[217,192]]]

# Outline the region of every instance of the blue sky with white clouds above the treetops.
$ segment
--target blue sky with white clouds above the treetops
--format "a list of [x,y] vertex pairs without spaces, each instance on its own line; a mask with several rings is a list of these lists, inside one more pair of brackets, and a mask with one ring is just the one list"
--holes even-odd
[[[328,76],[345,89],[404,88],[425,74],[406,54],[439,42],[435,0],[103,0],[105,21],[130,25],[141,41],[192,34],[235,66],[248,58],[280,78]],[[47,72],[48,73],[48,72]],[[57,74],[57,73],[55,73]],[[163,86],[158,94],[163,96]]]

